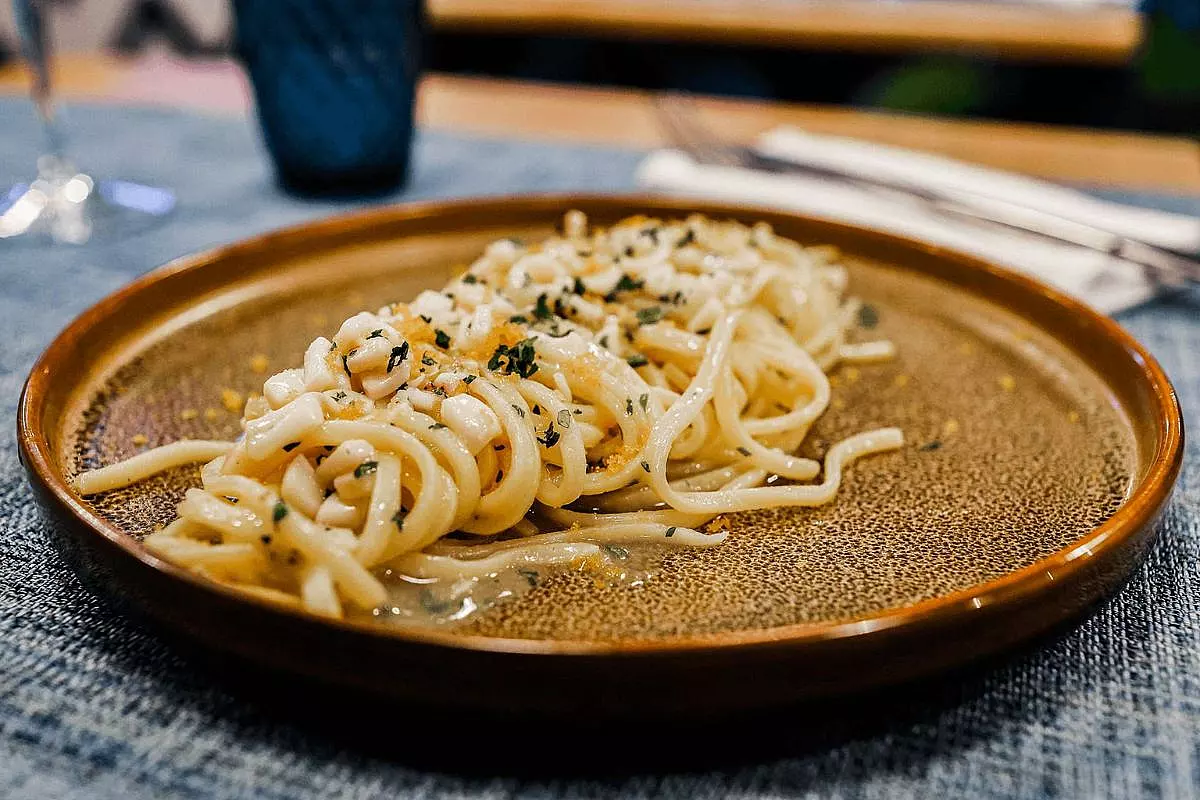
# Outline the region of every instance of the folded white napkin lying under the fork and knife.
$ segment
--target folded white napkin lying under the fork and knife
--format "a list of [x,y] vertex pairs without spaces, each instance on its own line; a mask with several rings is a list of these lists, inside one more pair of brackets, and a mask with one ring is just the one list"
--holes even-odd
[[[1200,251],[1200,221],[1193,217],[1106,203],[1044,181],[941,156],[818,137],[793,128],[768,132],[756,148],[775,158],[851,168],[864,178],[887,176],[893,182],[914,187],[971,192],[1022,203],[1151,243]],[[638,166],[637,181],[654,191],[780,207],[962,251],[1033,275],[1109,314],[1157,294],[1154,283],[1136,264],[1074,245],[949,217],[899,192],[864,190],[812,175],[700,164],[673,150],[650,154]]]

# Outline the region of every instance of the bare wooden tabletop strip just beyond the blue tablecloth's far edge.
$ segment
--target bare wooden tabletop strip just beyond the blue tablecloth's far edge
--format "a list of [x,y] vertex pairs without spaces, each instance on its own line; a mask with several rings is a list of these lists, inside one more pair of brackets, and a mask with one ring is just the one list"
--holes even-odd
[[[224,60],[65,56],[56,83],[67,101],[167,104],[221,114],[250,110],[241,72]],[[0,70],[0,95],[19,95],[25,86],[22,70]],[[1200,194],[1200,144],[1182,137],[714,97],[701,97],[697,104],[713,131],[731,142],[746,143],[787,124],[1062,182]],[[426,126],[467,133],[636,149],[668,144],[654,95],[632,90],[432,74],[421,88],[419,115]]]

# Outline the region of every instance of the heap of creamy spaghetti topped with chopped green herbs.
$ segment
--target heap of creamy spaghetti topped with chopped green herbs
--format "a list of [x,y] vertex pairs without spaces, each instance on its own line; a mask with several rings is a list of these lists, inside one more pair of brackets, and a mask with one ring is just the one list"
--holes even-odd
[[902,444],[882,428],[823,464],[794,455],[826,373],[894,351],[847,342],[858,306],[834,255],[763,223],[589,229],[571,211],[560,235],[494,242],[445,290],[317,338],[236,441],[156,447],[76,487],[206,462],[146,546],[332,618],[379,614],[398,582],[449,587],[470,602],[440,619],[458,619],[484,579],[535,583],[631,542],[712,547],[718,515],[829,503],[851,462]]

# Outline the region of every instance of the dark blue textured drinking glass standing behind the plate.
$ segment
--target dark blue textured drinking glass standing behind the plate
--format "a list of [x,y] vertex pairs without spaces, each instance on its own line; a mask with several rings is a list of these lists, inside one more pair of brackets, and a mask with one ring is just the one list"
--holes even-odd
[[421,0],[234,0],[266,149],[284,188],[402,186],[424,46]]

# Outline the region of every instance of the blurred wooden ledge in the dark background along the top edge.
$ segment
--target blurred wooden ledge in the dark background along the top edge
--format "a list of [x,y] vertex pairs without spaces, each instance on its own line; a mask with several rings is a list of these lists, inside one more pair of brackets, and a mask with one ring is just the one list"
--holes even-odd
[[1006,59],[1122,62],[1142,38],[1130,7],[920,0],[430,0],[440,30],[536,32]]

